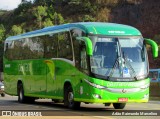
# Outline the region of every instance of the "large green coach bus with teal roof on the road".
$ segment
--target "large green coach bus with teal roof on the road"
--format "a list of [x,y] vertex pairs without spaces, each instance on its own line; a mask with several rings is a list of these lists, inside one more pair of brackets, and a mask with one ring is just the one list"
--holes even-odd
[[38,98],[113,104],[149,99],[149,66],[144,39],[134,27],[101,22],[51,26],[9,37],[4,46],[5,92],[21,103]]

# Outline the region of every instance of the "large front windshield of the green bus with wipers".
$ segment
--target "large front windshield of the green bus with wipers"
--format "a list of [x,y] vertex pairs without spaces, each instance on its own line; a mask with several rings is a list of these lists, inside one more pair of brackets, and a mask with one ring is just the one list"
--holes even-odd
[[148,74],[147,54],[141,37],[90,36],[93,55],[91,72],[113,81],[143,79]]

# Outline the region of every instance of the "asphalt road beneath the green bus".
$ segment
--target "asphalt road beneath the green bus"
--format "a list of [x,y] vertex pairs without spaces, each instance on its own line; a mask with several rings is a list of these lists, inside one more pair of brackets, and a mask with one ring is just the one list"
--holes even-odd
[[[160,100],[149,101],[148,103],[128,103],[123,110],[115,110],[113,106],[106,107],[103,104],[81,104],[79,110],[70,110],[64,107],[63,103],[55,104],[50,99],[38,99],[33,104],[21,104],[17,101],[17,96],[0,97],[0,115],[11,112],[12,116],[64,116],[74,118],[160,118]],[[142,115],[142,116],[140,116]],[[159,117],[157,116],[159,115]],[[0,117],[1,119],[1,117]],[[75,119],[75,118],[74,118]]]

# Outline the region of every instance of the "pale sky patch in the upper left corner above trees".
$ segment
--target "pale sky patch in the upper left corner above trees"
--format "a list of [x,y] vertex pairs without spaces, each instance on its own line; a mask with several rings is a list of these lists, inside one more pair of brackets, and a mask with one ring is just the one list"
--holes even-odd
[[[0,0],[1,10],[13,10],[18,7],[22,0]],[[31,1],[31,0],[28,0]]]

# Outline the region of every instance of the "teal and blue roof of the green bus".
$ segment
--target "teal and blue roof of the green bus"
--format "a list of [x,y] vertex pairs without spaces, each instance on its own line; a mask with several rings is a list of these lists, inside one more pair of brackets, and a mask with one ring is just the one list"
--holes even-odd
[[40,30],[31,31],[17,36],[11,36],[6,40],[16,40],[20,38],[45,35],[49,33],[57,33],[73,28],[83,30],[86,34],[109,35],[109,36],[140,36],[141,33],[134,27],[116,23],[104,22],[78,22],[57,26],[50,26]]

